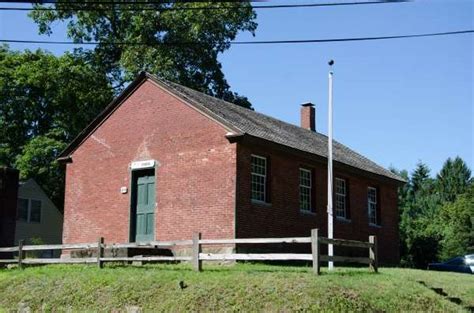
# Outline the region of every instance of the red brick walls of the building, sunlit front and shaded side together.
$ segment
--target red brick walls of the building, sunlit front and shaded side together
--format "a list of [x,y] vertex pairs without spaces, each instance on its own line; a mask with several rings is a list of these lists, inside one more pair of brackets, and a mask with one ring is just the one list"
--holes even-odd
[[[72,154],[67,165],[63,241],[129,240],[130,163],[155,159],[158,240],[309,236],[326,233],[327,169],[262,143],[230,144],[219,124],[145,82]],[[250,155],[270,156],[271,205],[250,201]],[[238,161],[237,161],[238,160]],[[299,211],[299,167],[315,171],[316,213]],[[237,172],[237,173],[236,173]],[[396,186],[340,171],[350,185],[351,222],[335,237],[379,237],[380,259],[398,262]],[[237,185],[237,189],[236,189]],[[367,186],[378,187],[382,226],[368,225]],[[235,214],[234,214],[235,212]],[[235,223],[237,227],[235,227]],[[337,253],[336,248],[336,253]]]

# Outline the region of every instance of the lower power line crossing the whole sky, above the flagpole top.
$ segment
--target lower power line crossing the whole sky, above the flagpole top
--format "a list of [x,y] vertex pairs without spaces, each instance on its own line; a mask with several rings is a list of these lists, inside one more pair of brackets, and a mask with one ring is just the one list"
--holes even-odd
[[[310,44],[310,43],[329,43],[329,42],[350,42],[350,41],[374,41],[374,40],[390,40],[390,39],[405,39],[405,38],[420,38],[420,37],[435,37],[435,36],[449,36],[474,33],[474,29],[459,30],[441,33],[424,33],[411,35],[396,35],[396,36],[379,36],[379,37],[352,37],[352,38],[332,38],[332,39],[296,39],[296,40],[261,40],[261,41],[231,41],[231,45],[264,45],[264,44]],[[17,40],[17,39],[0,39],[0,43],[20,43],[20,44],[48,44],[48,45],[131,45],[131,46],[186,46],[186,45],[200,45],[199,42],[73,42],[73,41],[42,41],[42,40]]]

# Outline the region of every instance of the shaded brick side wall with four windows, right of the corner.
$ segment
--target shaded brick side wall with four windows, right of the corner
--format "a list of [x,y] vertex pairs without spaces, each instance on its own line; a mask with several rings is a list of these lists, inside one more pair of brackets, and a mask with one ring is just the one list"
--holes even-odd
[[[271,204],[256,204],[250,200],[250,156],[257,154],[270,159]],[[237,211],[236,235],[245,237],[309,236],[312,228],[327,235],[327,165],[311,161],[265,144],[239,143],[237,147]],[[313,169],[315,175],[316,212],[299,210],[299,168]],[[335,168],[335,177],[345,178],[349,185],[351,221],[334,220],[334,237],[368,241],[377,235],[380,261],[396,264],[399,261],[397,187],[364,178]],[[369,226],[367,187],[378,188],[381,227]],[[340,248],[335,247],[341,253]],[[359,251],[367,254],[366,251]],[[341,255],[343,255],[341,253]]]

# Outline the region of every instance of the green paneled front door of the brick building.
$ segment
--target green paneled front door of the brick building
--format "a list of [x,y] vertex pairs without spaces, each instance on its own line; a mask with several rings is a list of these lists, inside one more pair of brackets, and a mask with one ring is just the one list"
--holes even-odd
[[152,241],[155,234],[155,176],[137,178],[135,241]]

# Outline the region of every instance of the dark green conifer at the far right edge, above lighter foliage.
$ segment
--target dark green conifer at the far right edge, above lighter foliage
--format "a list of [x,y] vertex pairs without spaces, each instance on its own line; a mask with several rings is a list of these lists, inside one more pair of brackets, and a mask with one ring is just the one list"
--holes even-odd
[[437,190],[443,201],[453,202],[471,184],[471,170],[460,157],[448,158],[437,175]]

